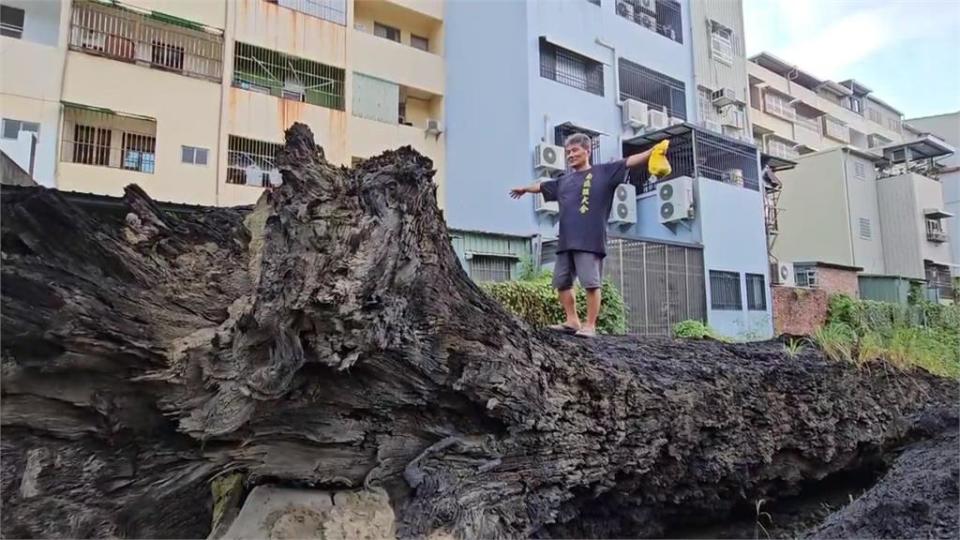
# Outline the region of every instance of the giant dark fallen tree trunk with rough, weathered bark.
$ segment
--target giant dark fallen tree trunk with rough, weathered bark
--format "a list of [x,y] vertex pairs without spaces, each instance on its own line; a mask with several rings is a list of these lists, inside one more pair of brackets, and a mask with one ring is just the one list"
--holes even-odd
[[280,163],[252,213],[3,194],[4,536],[204,536],[226,472],[382,485],[405,536],[656,535],[957,399],[772,343],[532,329],[460,269],[429,160],[336,168],[297,125]]

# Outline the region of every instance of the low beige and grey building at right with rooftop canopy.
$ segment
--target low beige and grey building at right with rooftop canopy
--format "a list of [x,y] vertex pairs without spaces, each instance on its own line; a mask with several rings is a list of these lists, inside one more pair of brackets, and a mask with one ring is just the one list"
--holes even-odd
[[[953,147],[934,136],[878,152],[840,146],[797,158],[783,172],[779,235],[773,255],[860,268],[860,295],[905,302],[909,284],[931,300],[950,296],[950,242],[937,159]],[[797,263],[801,286],[818,286]],[[802,279],[800,279],[802,277]]]

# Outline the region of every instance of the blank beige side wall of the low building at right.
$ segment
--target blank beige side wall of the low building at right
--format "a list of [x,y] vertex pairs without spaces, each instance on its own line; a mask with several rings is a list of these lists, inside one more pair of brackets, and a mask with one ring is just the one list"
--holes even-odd
[[773,245],[777,259],[854,266],[841,151],[801,156],[795,169],[778,175],[783,192]]

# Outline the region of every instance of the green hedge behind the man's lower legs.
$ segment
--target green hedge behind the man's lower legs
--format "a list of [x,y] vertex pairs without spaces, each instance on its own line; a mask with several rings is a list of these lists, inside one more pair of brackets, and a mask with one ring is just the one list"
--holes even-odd
[[[481,288],[496,298],[508,310],[521,319],[538,327],[564,321],[563,307],[557,300],[557,292],[550,282],[549,274],[540,274],[520,281],[482,283]],[[577,312],[580,320],[587,317],[586,292],[576,288]],[[597,318],[597,332],[601,334],[625,334],[627,332],[627,307],[623,296],[613,283],[603,282],[603,304]]]

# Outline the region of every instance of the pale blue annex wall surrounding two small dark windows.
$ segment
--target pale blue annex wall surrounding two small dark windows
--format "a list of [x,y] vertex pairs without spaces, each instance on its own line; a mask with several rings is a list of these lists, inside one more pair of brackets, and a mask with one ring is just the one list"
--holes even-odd
[[[763,203],[757,191],[705,178],[697,180],[698,224],[703,239],[707,322],[723,335],[765,339],[772,335],[770,267],[763,226]],[[736,211],[731,211],[736,209]],[[741,311],[710,308],[710,270],[738,272]],[[748,309],[744,274],[760,274],[767,294],[764,311]]]

